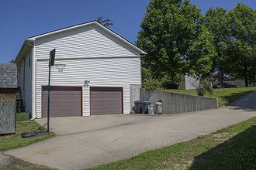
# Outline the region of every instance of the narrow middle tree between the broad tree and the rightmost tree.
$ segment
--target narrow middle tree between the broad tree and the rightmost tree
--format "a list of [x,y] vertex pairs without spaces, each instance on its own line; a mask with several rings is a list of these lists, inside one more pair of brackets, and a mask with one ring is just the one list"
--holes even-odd
[[225,8],[209,8],[205,15],[206,27],[213,34],[213,45],[216,56],[213,58],[213,71],[220,73],[220,83],[223,83],[223,59],[227,55],[227,10]]

